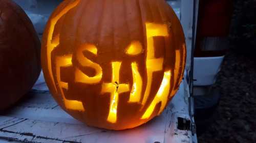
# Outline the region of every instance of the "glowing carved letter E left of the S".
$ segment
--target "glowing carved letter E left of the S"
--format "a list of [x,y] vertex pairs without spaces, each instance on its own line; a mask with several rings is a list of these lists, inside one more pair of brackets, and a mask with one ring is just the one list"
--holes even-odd
[[68,90],[68,83],[62,82],[60,80],[60,68],[61,67],[69,67],[72,66],[72,55],[66,56],[57,56],[56,58],[56,76],[57,76],[57,84],[60,89],[61,96],[63,98],[64,105],[67,109],[84,111],[84,107],[82,102],[76,100],[68,100],[66,99],[63,89]]

